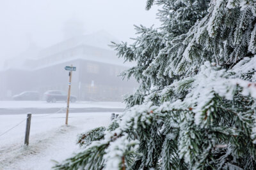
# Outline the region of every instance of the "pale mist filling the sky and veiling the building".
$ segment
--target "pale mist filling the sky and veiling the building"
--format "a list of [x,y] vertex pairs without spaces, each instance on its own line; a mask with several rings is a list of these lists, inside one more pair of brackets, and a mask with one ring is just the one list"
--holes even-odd
[[[72,94],[77,100],[121,101],[136,81],[118,74],[133,66],[118,59],[110,41],[136,37],[135,25],[159,26],[157,7],[145,1],[1,1],[1,100],[22,92],[67,92],[68,71],[77,67]],[[158,24],[158,25],[157,25]]]

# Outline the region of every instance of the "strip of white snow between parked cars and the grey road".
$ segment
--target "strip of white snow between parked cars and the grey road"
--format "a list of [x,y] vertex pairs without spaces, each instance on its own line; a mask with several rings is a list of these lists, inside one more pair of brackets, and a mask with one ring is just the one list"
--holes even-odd
[[[46,101],[0,101],[0,108],[65,108],[67,103],[47,103]],[[94,102],[78,101],[70,103],[70,108],[125,108],[124,103],[120,102]]]

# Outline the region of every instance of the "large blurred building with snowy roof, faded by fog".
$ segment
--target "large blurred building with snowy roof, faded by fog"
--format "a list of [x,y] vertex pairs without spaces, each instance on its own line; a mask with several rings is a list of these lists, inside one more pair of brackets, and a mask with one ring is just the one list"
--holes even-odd
[[0,72],[0,99],[10,99],[27,90],[40,94],[47,90],[67,91],[68,71],[64,67],[73,64],[77,70],[72,74],[72,95],[86,101],[120,101],[137,83],[117,76],[131,64],[124,64],[109,49],[108,44],[115,40],[100,31],[6,61]]

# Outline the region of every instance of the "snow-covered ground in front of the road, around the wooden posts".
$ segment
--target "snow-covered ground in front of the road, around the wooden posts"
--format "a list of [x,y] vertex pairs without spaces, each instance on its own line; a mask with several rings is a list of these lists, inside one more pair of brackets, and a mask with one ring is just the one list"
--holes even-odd
[[[48,103],[37,106],[44,104]],[[79,104],[81,103],[77,103],[77,106]],[[10,106],[1,103],[0,107]],[[33,115],[29,146],[25,147],[26,121],[21,124],[19,122],[25,120],[26,115],[0,115],[0,134],[19,124],[0,136],[0,169],[51,169],[54,166],[53,160],[61,162],[74,152],[79,152],[76,145],[77,134],[94,127],[107,126],[110,117],[111,113],[70,113],[66,126],[65,113]]]

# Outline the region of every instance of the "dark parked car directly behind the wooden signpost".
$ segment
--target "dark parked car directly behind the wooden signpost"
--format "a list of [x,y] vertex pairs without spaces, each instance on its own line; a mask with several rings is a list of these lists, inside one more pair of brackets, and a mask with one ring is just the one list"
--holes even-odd
[[[51,90],[44,93],[44,100],[48,103],[56,103],[56,101],[67,101],[67,92]],[[76,102],[75,96],[70,96],[70,102]]]

